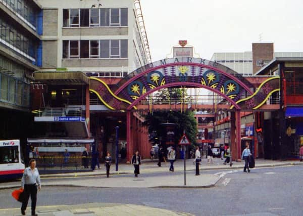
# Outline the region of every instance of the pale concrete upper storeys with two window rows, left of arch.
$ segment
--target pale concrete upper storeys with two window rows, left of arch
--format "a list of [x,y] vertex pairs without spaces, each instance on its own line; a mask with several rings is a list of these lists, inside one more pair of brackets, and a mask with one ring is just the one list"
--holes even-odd
[[125,76],[151,62],[139,0],[38,0],[42,71]]

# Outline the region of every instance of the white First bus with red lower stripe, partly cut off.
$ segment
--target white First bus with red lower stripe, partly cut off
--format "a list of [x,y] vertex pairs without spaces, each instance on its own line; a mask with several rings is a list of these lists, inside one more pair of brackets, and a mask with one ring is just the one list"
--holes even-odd
[[0,140],[0,180],[21,178],[23,172],[20,140]]

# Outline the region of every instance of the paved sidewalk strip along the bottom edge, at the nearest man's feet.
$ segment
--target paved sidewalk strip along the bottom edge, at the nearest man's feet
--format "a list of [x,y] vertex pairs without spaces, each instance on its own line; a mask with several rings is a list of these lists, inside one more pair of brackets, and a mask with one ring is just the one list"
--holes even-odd
[[[27,208],[27,214],[30,215],[30,206]],[[120,204],[120,203],[86,203],[80,205],[54,205],[37,207],[36,213],[43,216],[118,216],[118,215],[163,215],[163,216],[190,216],[192,214],[184,212],[174,212],[171,210],[153,208],[142,205]],[[20,208],[0,209],[2,216],[19,216]]]

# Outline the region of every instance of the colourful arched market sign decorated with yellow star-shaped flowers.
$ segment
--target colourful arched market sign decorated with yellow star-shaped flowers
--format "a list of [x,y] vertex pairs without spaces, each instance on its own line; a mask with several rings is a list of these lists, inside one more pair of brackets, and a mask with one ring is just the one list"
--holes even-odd
[[279,90],[279,77],[271,77],[262,84],[266,89],[259,88],[254,92],[250,82],[224,65],[206,59],[182,57],[163,59],[136,69],[117,83],[115,92],[102,80],[93,83],[94,88],[90,89],[110,109],[115,110],[130,110],[154,91],[181,86],[216,92],[232,104],[231,108],[246,106],[245,109],[254,109]]

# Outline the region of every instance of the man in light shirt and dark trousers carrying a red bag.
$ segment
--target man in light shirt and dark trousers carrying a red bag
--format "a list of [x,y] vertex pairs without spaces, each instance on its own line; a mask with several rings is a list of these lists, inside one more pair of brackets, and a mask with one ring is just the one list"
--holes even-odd
[[[37,188],[38,187],[38,188]],[[36,168],[36,160],[29,161],[29,167],[24,169],[21,179],[21,188],[24,189],[25,199],[22,202],[21,214],[25,215],[28,199],[31,199],[32,216],[36,216],[36,203],[37,203],[37,189],[41,190],[41,181],[38,169]]]

